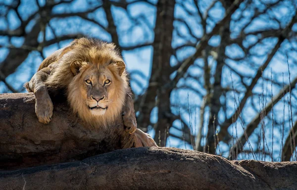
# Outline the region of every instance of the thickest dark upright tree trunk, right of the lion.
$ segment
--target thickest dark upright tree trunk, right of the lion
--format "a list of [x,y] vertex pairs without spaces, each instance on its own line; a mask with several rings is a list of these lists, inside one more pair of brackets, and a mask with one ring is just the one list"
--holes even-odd
[[[150,83],[156,82],[155,92],[157,95],[158,121],[154,127],[154,141],[159,146],[165,146],[168,138],[169,128],[172,126],[170,94],[172,89],[164,88],[171,79],[170,58],[172,55],[172,35],[174,21],[175,0],[159,0],[157,3],[156,26],[154,29],[153,65],[156,68],[151,70]],[[152,77],[156,75],[156,77]],[[155,81],[152,81],[155,79]],[[149,88],[148,88],[149,90]],[[150,95],[149,95],[150,96]],[[149,97],[152,98],[152,97]],[[153,100],[155,97],[153,97]],[[149,120],[148,120],[149,121]],[[167,133],[168,132],[168,133]]]

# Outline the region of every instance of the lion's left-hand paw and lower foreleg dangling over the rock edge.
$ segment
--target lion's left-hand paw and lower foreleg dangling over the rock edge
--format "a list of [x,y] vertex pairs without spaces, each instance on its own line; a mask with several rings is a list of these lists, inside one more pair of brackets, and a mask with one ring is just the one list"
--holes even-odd
[[35,112],[39,122],[48,124],[51,120],[52,110],[53,105],[49,95],[42,99],[36,98]]

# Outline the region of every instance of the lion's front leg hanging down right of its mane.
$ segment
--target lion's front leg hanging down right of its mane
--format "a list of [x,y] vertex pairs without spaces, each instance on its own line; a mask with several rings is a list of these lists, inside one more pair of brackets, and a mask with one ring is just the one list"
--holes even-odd
[[122,118],[125,130],[130,134],[134,133],[137,128],[137,122],[134,111],[134,102],[128,93],[126,95],[126,102],[123,106]]

